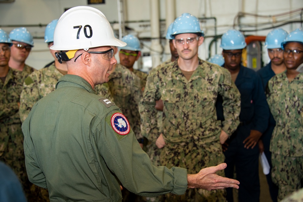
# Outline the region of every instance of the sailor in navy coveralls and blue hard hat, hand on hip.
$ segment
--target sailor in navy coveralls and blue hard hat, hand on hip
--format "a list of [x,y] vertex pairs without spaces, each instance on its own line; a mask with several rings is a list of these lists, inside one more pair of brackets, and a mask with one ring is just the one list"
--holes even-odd
[[[253,69],[241,65],[242,49],[246,47],[244,35],[234,29],[221,37],[222,65],[231,74],[241,94],[240,124],[231,137],[222,145],[225,163],[225,176],[232,178],[234,168],[237,180],[241,182],[239,201],[259,201],[259,149],[258,140],[267,128],[269,109],[260,77]],[[218,96],[218,120],[225,121],[222,110],[224,99]],[[227,189],[227,200],[233,201],[232,190]]]

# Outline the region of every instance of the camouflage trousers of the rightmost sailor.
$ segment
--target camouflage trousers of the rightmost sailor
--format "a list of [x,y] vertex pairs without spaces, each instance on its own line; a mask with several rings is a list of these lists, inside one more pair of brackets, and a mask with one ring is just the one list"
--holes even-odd
[[278,201],[301,188],[303,157],[287,157],[271,154],[272,181],[278,185]]

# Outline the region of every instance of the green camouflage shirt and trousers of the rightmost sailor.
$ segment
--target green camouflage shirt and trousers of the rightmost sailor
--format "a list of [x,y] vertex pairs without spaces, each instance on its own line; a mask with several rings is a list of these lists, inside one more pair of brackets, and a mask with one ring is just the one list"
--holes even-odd
[[279,186],[278,200],[301,188],[303,179],[302,86],[303,73],[289,82],[285,71],[272,77],[266,89],[276,121],[270,151],[273,182]]

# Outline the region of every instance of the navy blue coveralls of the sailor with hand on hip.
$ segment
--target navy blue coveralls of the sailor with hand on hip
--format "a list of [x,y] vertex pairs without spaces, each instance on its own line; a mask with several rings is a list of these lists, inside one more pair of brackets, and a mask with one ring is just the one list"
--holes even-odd
[[[222,67],[224,64],[222,65]],[[261,79],[257,73],[241,65],[235,84],[241,94],[240,124],[237,130],[226,141],[227,150],[224,152],[225,176],[234,178],[236,169],[239,185],[239,202],[259,201],[260,182],[258,171],[259,147],[245,149],[243,141],[250,135],[251,130],[261,133],[267,129],[269,108]],[[224,120],[222,97],[218,96],[217,103],[218,120]],[[233,201],[232,188],[227,188],[227,200]]]

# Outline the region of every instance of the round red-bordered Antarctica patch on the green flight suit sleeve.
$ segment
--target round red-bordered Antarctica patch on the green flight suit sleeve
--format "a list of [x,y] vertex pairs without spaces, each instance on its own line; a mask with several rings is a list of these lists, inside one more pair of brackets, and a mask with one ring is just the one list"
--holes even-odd
[[128,120],[122,113],[114,113],[112,115],[111,124],[119,135],[127,135],[130,131]]

